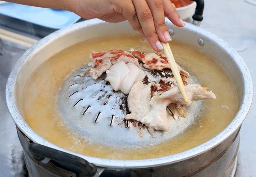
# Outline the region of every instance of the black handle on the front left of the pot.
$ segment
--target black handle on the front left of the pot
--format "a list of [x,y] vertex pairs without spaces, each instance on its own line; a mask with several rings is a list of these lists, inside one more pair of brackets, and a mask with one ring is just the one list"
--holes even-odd
[[97,168],[96,165],[89,163],[81,157],[52,149],[38,143],[30,143],[28,150],[37,161],[44,162],[47,160],[46,158],[49,160],[52,159],[81,170],[81,172],[87,177],[99,177],[99,175],[104,171],[103,168]]

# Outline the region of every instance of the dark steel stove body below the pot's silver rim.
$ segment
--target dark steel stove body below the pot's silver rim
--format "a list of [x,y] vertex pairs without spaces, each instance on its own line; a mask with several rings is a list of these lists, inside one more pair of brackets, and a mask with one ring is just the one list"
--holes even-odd
[[[239,130],[215,148],[188,160],[147,169],[114,170],[98,167],[98,173],[95,177],[98,177],[103,170],[105,171],[101,177],[169,177],[170,174],[173,177],[233,177],[240,141]],[[67,166],[67,168],[63,168],[52,160],[47,164],[36,162],[27,151],[30,144],[29,139],[19,129],[17,132],[24,149],[25,162],[30,177],[84,177],[76,169],[70,169]]]

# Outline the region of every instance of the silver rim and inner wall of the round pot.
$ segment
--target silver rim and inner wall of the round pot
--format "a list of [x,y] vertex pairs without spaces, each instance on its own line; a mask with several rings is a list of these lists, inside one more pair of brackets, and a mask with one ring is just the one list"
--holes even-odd
[[[138,34],[127,21],[111,24],[97,19],[87,20],[56,31],[44,39],[41,39],[32,48],[29,48],[16,63],[6,86],[6,102],[15,124],[35,143],[40,143],[44,146],[76,155],[97,166],[108,168],[148,168],[176,163],[207,152],[219,143],[227,140],[227,138],[233,135],[241,126],[250,109],[253,98],[253,84],[247,66],[230,45],[198,26],[187,23],[186,27],[179,28],[171,22],[167,22],[167,26],[175,31],[175,34],[172,36],[173,39],[195,46],[199,50],[214,57],[226,68],[236,84],[239,96],[239,111],[233,121],[211,140],[175,155],[150,160],[108,160],[70,152],[45,140],[28,126],[19,108],[25,83],[34,72],[35,68],[55,53],[87,39],[115,34]],[[95,33],[95,31],[97,31],[97,33]],[[198,44],[198,39],[204,39],[204,46]]]

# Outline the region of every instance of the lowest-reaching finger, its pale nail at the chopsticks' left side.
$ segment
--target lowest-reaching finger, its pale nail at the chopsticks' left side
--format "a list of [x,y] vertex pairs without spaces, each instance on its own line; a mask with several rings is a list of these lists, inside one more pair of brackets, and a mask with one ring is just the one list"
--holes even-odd
[[157,31],[154,26],[154,20],[150,8],[145,0],[132,0],[138,16],[140,25],[145,34],[145,37],[148,39],[151,47],[160,52],[163,50],[163,45],[161,44]]

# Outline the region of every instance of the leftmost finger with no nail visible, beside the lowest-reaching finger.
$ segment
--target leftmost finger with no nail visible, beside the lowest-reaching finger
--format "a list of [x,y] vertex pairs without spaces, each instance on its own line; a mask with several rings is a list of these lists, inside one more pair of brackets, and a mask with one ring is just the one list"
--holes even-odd
[[136,14],[136,10],[132,1],[119,1],[117,0],[116,3],[120,4],[120,8],[116,9],[119,13],[122,13],[123,16],[128,20],[130,25],[140,32],[145,37],[143,33],[142,27],[140,25],[138,16]]

